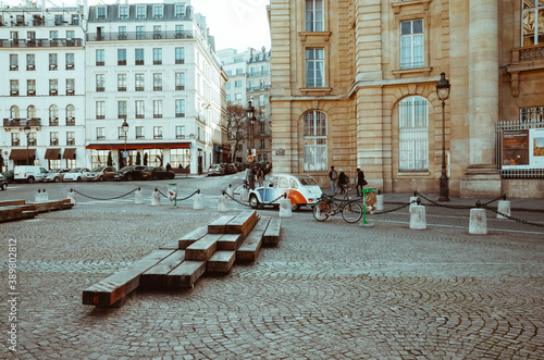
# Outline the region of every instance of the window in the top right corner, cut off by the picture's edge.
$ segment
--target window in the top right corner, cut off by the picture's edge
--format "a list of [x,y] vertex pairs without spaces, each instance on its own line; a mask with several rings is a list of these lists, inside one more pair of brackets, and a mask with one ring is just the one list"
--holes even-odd
[[522,46],[544,44],[544,0],[524,0],[522,4]]

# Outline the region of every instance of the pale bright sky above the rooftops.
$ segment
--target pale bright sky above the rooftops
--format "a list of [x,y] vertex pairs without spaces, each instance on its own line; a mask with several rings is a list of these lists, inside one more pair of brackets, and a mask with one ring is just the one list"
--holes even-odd
[[[36,0],[38,3],[41,0]],[[183,0],[178,0],[183,2]],[[3,5],[17,5],[25,0],[0,0]],[[128,3],[161,3],[162,0],[128,0]],[[215,50],[248,47],[270,50],[267,5],[270,0],[190,0],[195,12],[206,16],[210,34],[215,37]],[[46,5],[74,5],[77,0],[46,0]],[[89,5],[115,3],[115,0],[88,0]],[[125,0],[120,0],[125,3]]]

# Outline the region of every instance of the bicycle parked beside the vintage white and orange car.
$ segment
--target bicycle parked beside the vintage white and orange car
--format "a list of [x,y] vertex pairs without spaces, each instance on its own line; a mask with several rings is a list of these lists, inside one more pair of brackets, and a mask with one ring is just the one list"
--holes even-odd
[[338,212],[342,212],[342,218],[348,223],[356,223],[362,218],[362,207],[351,200],[347,193],[342,200],[323,194],[313,207],[313,218],[317,221],[325,221],[329,216],[334,216]]

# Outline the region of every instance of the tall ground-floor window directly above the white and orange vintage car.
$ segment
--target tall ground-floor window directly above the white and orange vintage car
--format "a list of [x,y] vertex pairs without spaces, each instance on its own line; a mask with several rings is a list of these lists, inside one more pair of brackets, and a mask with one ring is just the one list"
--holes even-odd
[[321,111],[304,114],[305,172],[326,172],[326,115]]

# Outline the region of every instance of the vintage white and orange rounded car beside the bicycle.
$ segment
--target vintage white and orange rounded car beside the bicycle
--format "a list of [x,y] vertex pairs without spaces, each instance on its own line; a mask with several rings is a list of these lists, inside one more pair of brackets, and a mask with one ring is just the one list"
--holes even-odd
[[264,204],[279,207],[279,197],[287,194],[290,209],[296,211],[304,206],[313,206],[323,194],[318,182],[310,175],[277,174],[271,176],[267,183],[267,186],[249,190],[251,208],[257,209]]

